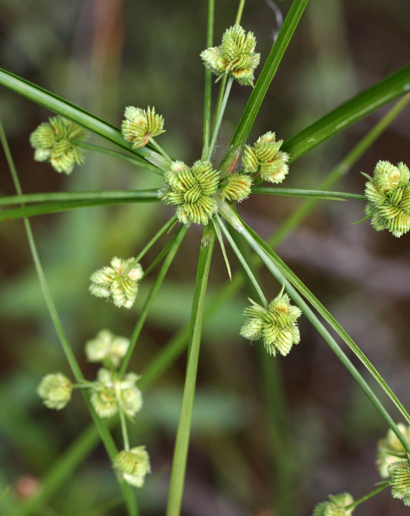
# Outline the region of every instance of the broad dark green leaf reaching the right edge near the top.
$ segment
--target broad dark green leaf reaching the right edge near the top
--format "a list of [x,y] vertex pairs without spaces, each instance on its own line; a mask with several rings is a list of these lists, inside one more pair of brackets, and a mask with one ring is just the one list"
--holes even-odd
[[289,163],[315,148],[351,124],[362,120],[373,111],[385,106],[410,89],[410,65],[389,75],[374,86],[358,93],[303,131],[286,140],[283,151],[290,156]]

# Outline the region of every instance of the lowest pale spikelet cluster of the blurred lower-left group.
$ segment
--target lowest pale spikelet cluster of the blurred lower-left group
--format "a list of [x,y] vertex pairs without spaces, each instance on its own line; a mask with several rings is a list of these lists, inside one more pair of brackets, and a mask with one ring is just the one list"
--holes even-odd
[[113,467],[118,480],[126,481],[134,487],[142,487],[145,476],[151,473],[149,455],[145,446],[119,451],[115,456]]

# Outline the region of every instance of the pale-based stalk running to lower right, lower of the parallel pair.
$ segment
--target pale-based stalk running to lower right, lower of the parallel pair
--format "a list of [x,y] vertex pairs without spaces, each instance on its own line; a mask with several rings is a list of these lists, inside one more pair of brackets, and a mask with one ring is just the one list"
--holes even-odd
[[[285,283],[285,288],[288,294],[292,297],[292,299],[295,301],[295,303],[298,305],[298,307],[302,310],[304,315],[309,319],[311,324],[314,326],[314,328],[318,331],[318,333],[324,338],[324,340],[329,344],[332,351],[336,354],[338,359],[343,363],[343,365],[348,369],[349,373],[353,376],[353,378],[356,380],[358,385],[363,389],[363,391],[366,393],[374,407],[379,411],[383,419],[386,421],[388,426],[392,429],[392,431],[395,432],[396,436],[404,446],[404,449],[407,451],[407,453],[410,453],[410,444],[407,442],[401,431],[398,429],[395,422],[392,420],[391,416],[388,414],[386,409],[381,404],[379,398],[374,394],[374,392],[370,389],[369,385],[366,383],[362,375],[357,371],[357,369],[354,367],[352,362],[347,358],[346,354],[341,350],[340,346],[336,343],[334,338],[330,335],[328,330],[324,328],[324,326],[321,324],[319,319],[316,317],[316,315],[313,313],[313,311],[309,308],[307,303],[303,301],[301,296],[298,294],[296,289],[294,288],[294,281],[289,280],[289,275],[285,268],[281,267],[280,262],[275,258],[276,254],[274,251],[272,251],[269,246],[253,231],[251,230],[245,222],[237,216],[229,205],[225,204],[223,207],[223,213],[222,215],[224,218],[233,226],[234,229],[236,229],[241,235],[246,239],[248,244],[251,246],[251,248],[258,254],[260,259],[263,261],[263,263],[266,265],[266,267],[269,269],[269,271],[272,273],[272,275],[275,276],[275,278],[279,281],[279,283]],[[283,262],[282,262],[283,263]],[[296,285],[295,285],[296,286]],[[301,292],[299,287],[299,292]],[[303,293],[302,293],[303,294]],[[307,296],[303,294],[306,298]],[[310,299],[308,299],[309,302],[311,302]],[[311,302],[312,303],[312,302]],[[313,304],[313,303],[312,303]],[[316,308],[316,307],[315,307]],[[319,312],[320,315],[323,315],[322,312]],[[329,320],[328,320],[329,322]],[[335,327],[333,324],[331,325],[334,329]],[[345,332],[346,333],[346,332]],[[349,337],[350,339],[350,337]],[[353,342],[353,341],[351,341]],[[354,345],[356,348],[357,346]],[[351,347],[351,346],[349,346]],[[352,348],[353,349],[353,348]],[[355,349],[353,349],[355,351]],[[355,351],[356,353],[356,351]],[[356,353],[357,354],[357,353]],[[363,354],[363,353],[362,353]],[[368,362],[368,360],[366,359]],[[363,362],[363,360],[362,360]],[[365,362],[364,362],[365,363]],[[366,365],[366,363],[365,363]],[[367,367],[367,365],[366,365]],[[370,370],[370,369],[369,369]],[[372,373],[372,371],[370,371]],[[372,373],[373,374],[373,373]],[[373,374],[374,376],[374,374]],[[396,396],[392,394],[391,390],[388,388],[386,382],[380,377],[381,381],[379,381],[378,378],[376,378],[380,385],[383,387],[385,392],[389,395],[389,397],[395,402],[395,404],[398,406],[400,410],[400,402],[399,405],[395,400],[397,400]],[[391,396],[392,395],[392,396]],[[398,400],[397,400],[398,401]],[[402,414],[405,416],[406,412],[402,412]],[[405,416],[406,417],[406,416]],[[407,415],[408,417],[408,415]],[[406,417],[406,419],[407,419]],[[407,420],[408,421],[408,420]]]

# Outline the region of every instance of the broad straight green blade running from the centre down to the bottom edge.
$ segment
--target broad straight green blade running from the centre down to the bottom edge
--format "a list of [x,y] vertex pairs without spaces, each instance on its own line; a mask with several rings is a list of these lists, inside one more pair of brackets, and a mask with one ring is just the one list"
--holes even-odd
[[[209,228],[208,228],[209,227]],[[203,237],[210,237],[207,247],[201,245],[198,270],[195,281],[194,300],[192,303],[190,338],[186,365],[185,385],[182,395],[177,437],[175,440],[174,458],[169,483],[166,516],[179,516],[181,513],[182,495],[185,480],[186,460],[190,442],[192,409],[194,406],[196,374],[198,369],[199,346],[201,341],[202,317],[207,291],[209,268],[215,241],[215,231],[211,224],[203,228]]]

